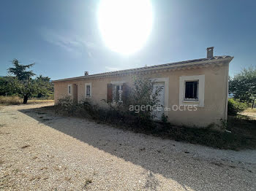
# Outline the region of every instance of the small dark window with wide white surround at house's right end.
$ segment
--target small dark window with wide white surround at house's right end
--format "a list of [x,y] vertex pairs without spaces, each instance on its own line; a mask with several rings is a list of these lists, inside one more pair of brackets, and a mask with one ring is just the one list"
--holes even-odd
[[205,75],[179,77],[179,105],[204,106]]

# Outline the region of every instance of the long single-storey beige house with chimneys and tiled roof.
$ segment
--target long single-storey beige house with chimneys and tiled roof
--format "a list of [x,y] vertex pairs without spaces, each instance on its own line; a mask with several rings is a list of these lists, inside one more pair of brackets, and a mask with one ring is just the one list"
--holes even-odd
[[55,104],[67,95],[78,102],[91,98],[99,105],[104,104],[102,99],[121,101],[120,93],[132,85],[132,76],[145,75],[162,87],[159,101],[165,108],[161,112],[173,124],[220,124],[227,119],[228,70],[233,57],[214,56],[213,50],[208,47],[206,58],[191,61],[92,75],[86,71],[82,77],[54,80]]

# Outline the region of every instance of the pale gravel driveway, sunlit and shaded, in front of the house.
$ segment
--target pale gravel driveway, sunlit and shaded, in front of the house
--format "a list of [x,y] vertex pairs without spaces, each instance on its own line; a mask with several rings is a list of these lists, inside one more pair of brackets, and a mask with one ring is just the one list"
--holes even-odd
[[158,139],[0,106],[0,190],[256,190],[256,151]]

